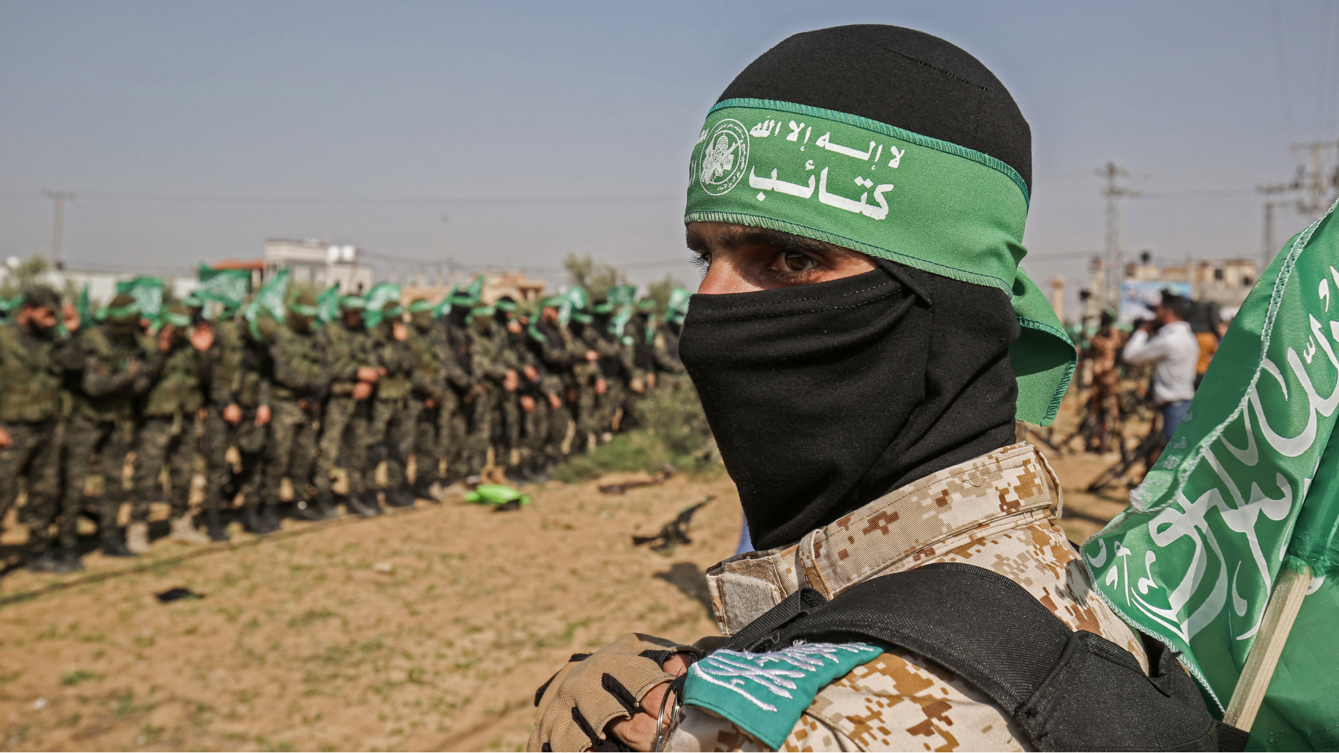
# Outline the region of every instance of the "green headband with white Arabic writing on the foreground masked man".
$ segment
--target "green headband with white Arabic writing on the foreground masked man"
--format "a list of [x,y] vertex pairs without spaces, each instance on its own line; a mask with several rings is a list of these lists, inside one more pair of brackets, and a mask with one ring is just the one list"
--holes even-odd
[[999,159],[896,126],[791,102],[726,99],[692,151],[684,222],[770,228],[1002,289],[1018,418],[1050,423],[1077,354],[1027,255],[1027,184]]

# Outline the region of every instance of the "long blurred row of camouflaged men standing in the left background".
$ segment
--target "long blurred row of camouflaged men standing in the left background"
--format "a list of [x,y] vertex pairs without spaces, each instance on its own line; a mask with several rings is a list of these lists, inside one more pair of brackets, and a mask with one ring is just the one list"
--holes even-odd
[[234,516],[258,535],[287,516],[374,517],[471,477],[541,478],[683,371],[687,291],[657,315],[628,285],[530,304],[479,289],[190,296],[151,315],[122,292],[80,315],[29,287],[0,324],[0,520],[25,485],[25,564],[68,572],[80,517],[104,555],[145,555],[159,501],[170,539],[193,544],[228,540]]

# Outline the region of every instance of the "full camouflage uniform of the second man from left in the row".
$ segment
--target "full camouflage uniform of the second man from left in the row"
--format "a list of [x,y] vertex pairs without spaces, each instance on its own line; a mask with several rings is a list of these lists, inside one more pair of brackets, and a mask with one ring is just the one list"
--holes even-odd
[[99,521],[103,553],[115,556],[130,555],[116,516],[126,501],[125,465],[134,442],[135,399],[149,391],[162,366],[151,344],[142,342],[138,312],[126,319],[86,324],[67,350],[66,363],[74,405],[64,429],[63,508],[72,517],[86,506],[84,484],[94,458],[99,458],[102,497],[87,506]]

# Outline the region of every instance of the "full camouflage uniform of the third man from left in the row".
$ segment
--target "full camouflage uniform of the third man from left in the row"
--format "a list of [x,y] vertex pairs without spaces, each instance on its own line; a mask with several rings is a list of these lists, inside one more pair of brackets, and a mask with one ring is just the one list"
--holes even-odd
[[135,498],[130,519],[149,519],[149,504],[161,498],[158,474],[166,466],[171,517],[187,513],[195,473],[195,434],[205,405],[208,356],[195,350],[182,328],[162,356],[157,383],[149,390],[135,433]]

